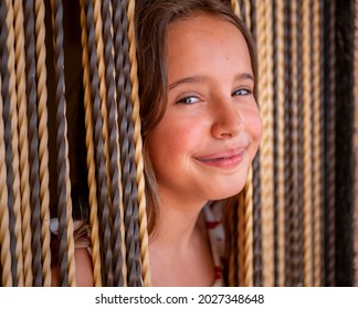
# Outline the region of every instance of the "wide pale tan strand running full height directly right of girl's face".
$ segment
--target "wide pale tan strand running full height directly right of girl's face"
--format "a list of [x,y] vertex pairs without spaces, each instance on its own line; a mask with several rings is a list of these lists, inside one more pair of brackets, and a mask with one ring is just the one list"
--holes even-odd
[[260,166],[262,168],[263,281],[274,285],[273,238],[273,106],[272,106],[272,3],[257,1],[259,104],[263,119]]

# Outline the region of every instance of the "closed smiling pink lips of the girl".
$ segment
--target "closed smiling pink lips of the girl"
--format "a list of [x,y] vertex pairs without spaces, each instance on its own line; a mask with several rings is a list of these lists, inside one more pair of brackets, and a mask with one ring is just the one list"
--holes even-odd
[[203,157],[197,157],[196,160],[211,167],[232,169],[242,162],[245,147],[238,147]]

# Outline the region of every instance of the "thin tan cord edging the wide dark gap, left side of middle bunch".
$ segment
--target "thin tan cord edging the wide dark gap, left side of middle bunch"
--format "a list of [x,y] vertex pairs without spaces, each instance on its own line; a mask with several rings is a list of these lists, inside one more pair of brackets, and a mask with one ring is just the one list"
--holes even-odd
[[87,148],[87,182],[88,182],[88,200],[90,200],[90,224],[91,224],[91,243],[92,243],[92,264],[93,280],[95,287],[102,286],[101,277],[101,251],[99,251],[99,230],[98,230],[98,202],[97,202],[97,184],[96,184],[96,166],[94,160],[94,142],[93,142],[93,124],[92,124],[92,105],[91,105],[91,84],[90,84],[90,63],[88,63],[88,43],[86,33],[86,15],[84,0],[81,0],[81,28],[82,28],[82,65],[83,65],[83,85],[84,85],[84,110],[86,127],[86,148]]

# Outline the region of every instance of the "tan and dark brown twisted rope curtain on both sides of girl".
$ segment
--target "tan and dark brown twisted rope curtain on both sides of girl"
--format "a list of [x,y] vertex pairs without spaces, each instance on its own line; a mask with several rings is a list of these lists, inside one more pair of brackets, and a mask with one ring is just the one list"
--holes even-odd
[[[255,38],[264,130],[238,206],[231,209],[228,284],[339,285],[343,266],[337,260],[347,254],[337,259],[336,235],[341,234],[336,225],[345,201],[337,202],[343,190],[337,188],[336,124],[338,94],[350,85],[337,83],[344,70],[336,56],[341,47],[336,38],[338,3],[231,3]],[[59,220],[61,285],[76,285],[71,193],[78,168],[71,136],[78,137],[71,120],[73,73],[65,74],[72,72],[66,4],[0,1],[2,286],[51,286],[51,216]],[[80,181],[87,190],[94,285],[150,286],[135,1],[81,0],[70,6],[78,11],[83,92],[76,108],[83,109],[86,171]],[[346,96],[351,113],[352,95]],[[349,189],[346,182],[340,184]],[[345,205],[349,213],[349,200]],[[346,237],[345,244],[350,241]]]

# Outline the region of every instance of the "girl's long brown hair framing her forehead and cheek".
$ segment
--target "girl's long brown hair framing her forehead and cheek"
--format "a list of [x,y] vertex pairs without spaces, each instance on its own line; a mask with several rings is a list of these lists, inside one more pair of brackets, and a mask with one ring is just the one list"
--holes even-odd
[[[146,142],[150,131],[158,125],[167,107],[167,32],[176,21],[189,19],[198,13],[233,23],[243,34],[254,77],[256,78],[256,55],[252,36],[245,24],[233,13],[229,0],[137,0],[136,39],[140,97],[141,135],[146,175],[146,198],[148,207],[148,231],[155,230],[158,215],[156,179],[147,153]],[[255,89],[254,89],[255,94]]]

